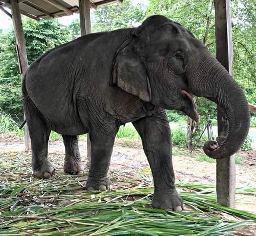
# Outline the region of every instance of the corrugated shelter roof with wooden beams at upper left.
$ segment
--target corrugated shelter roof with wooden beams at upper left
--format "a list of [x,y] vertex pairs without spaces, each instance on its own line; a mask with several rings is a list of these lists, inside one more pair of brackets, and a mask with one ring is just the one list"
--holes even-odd
[[[90,0],[91,7],[123,0]],[[38,18],[55,18],[79,11],[79,0],[18,0],[23,15]],[[10,7],[10,0],[0,0],[2,7]]]

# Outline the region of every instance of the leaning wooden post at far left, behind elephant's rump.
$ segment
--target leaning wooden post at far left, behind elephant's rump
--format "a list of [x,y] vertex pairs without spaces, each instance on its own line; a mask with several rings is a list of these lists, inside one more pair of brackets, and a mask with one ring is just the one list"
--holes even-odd
[[[20,69],[22,72],[22,77],[25,76],[25,73],[28,69],[28,59],[26,53],[26,43],[25,36],[22,28],[22,20],[20,15],[20,10],[18,6],[17,0],[10,0],[11,4],[11,13],[12,13],[12,21],[14,26],[16,44],[18,48],[18,57],[20,62]],[[29,131],[27,125],[25,125],[25,150],[28,151],[31,149],[31,143],[29,138]]]

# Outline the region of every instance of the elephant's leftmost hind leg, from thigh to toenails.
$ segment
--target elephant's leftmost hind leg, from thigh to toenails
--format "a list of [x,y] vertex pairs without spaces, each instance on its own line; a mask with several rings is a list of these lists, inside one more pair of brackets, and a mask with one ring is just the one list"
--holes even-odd
[[24,99],[24,111],[31,138],[33,175],[49,178],[55,173],[55,167],[48,161],[50,124],[29,97]]

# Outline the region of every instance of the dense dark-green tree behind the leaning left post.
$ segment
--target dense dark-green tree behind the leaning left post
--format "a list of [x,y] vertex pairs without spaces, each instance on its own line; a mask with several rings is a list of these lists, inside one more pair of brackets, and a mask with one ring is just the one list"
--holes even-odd
[[[69,31],[57,20],[36,22],[26,18],[23,21],[23,28],[29,64],[44,52],[70,39]],[[5,113],[16,114],[21,118],[21,76],[15,44],[13,30],[0,36],[0,108]]]

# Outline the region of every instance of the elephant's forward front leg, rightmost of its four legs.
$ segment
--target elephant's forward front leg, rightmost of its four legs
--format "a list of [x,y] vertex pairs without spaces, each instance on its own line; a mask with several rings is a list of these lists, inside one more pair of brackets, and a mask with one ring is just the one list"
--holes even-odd
[[153,116],[133,122],[143,142],[154,178],[152,206],[172,211],[182,211],[183,201],[175,188],[172,167],[171,131],[164,110]]

